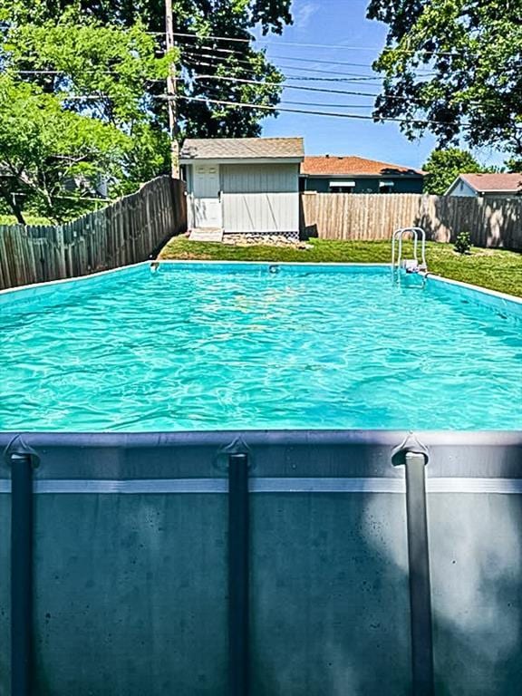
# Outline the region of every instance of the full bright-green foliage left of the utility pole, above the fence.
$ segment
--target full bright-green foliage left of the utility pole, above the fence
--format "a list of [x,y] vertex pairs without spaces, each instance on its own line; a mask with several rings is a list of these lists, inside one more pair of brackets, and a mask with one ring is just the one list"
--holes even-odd
[[176,55],[156,57],[140,23],[104,26],[69,10],[57,23],[10,18],[2,39],[0,193],[19,220],[21,197],[62,219],[101,176],[117,195],[169,170],[148,87],[164,82]]

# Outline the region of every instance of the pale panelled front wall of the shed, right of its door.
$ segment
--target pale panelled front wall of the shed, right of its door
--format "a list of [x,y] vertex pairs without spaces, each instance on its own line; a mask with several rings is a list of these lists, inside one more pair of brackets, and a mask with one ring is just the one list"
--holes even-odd
[[297,232],[299,166],[222,166],[225,232]]

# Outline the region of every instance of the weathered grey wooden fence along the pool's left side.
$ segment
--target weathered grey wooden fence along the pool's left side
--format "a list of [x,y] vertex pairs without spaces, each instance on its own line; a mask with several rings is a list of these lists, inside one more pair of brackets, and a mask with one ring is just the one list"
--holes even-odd
[[169,176],[64,225],[0,225],[0,288],[144,261],[186,228],[185,187]]

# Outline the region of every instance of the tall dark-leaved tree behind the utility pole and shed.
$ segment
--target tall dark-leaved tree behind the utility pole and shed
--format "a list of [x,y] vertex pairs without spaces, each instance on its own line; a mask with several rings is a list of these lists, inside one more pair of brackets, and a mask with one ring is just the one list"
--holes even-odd
[[[35,24],[56,21],[67,6],[80,6],[82,16],[91,16],[102,24],[131,27],[140,22],[148,32],[158,33],[158,48],[165,47],[162,0],[0,0],[0,6],[2,3],[9,6],[11,21],[19,23],[27,21],[28,15]],[[266,51],[256,50],[251,31],[260,26],[263,34],[281,34],[285,24],[292,22],[290,5],[291,0],[173,1],[174,31],[179,43],[180,139],[259,135],[259,121],[274,112],[241,109],[233,104],[274,107],[279,102],[283,75],[268,61]],[[160,97],[164,92],[164,84],[148,86],[152,96]],[[156,99],[152,108],[158,120],[166,124],[165,102]]]

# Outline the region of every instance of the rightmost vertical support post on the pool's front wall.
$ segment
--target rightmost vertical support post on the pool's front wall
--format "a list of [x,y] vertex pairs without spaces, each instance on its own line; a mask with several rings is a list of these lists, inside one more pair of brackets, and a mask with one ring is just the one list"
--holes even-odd
[[411,673],[413,696],[433,696],[430,549],[426,514],[428,451],[410,435],[391,458],[406,474],[406,525],[410,579]]

